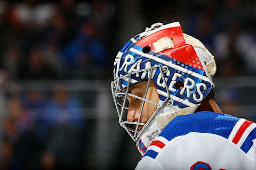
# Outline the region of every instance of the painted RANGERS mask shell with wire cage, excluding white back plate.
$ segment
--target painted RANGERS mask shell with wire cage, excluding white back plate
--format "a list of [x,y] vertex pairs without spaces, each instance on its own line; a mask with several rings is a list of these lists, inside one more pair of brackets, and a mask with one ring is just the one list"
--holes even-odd
[[[164,25],[165,29],[153,30],[154,33],[151,35],[143,32],[129,40],[116,56],[111,91],[119,124],[129,133],[133,141],[138,141],[147,125],[167,101],[170,100],[173,105],[171,107],[175,109],[195,106],[202,103],[213,87],[213,83],[204,71],[204,62],[199,60],[193,46],[186,44],[180,26],[176,26],[169,28]],[[158,52],[156,47],[161,44],[163,37],[170,37],[174,46]],[[151,50],[145,51],[143,47],[149,47]],[[146,99],[151,79],[155,82],[159,103]],[[145,95],[139,97],[130,94],[129,87],[141,81],[147,81]],[[182,89],[175,89],[174,83],[177,81],[183,83]],[[137,122],[126,121],[129,108],[128,96],[142,100]],[[157,109],[146,123],[140,123],[145,102],[156,105]],[[141,126],[142,129],[139,128]]]

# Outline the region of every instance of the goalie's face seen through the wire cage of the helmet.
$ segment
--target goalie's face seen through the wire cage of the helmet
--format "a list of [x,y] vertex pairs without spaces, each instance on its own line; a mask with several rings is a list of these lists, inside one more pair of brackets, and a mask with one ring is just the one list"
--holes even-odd
[[[131,87],[129,87],[129,93],[144,98],[146,87],[147,87],[147,81],[133,84]],[[138,122],[142,100],[131,97],[131,96],[128,96],[127,99],[129,100],[129,110],[127,113],[127,121]],[[153,80],[150,80],[149,82],[146,99],[150,101],[154,101],[155,103],[158,103],[159,101],[156,85]],[[157,108],[156,105],[145,101],[142,114],[141,114],[140,123],[146,123],[151,117],[151,115],[153,115],[153,113],[156,111],[156,108]]]

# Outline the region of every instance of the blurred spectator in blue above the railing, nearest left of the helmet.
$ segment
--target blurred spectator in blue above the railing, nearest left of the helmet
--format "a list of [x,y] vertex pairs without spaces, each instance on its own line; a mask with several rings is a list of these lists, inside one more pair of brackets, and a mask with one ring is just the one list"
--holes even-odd
[[93,36],[96,27],[91,23],[83,23],[74,40],[60,50],[61,59],[71,70],[72,78],[93,79],[104,78],[107,55],[105,49]]

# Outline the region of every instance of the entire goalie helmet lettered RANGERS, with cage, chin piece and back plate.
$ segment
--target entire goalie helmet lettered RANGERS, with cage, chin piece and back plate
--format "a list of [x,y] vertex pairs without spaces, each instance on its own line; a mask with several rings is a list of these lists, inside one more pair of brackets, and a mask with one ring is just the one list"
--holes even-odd
[[[215,72],[214,57],[199,40],[183,33],[179,22],[155,23],[121,48],[114,62],[111,92],[119,124],[137,143],[141,155],[175,116],[196,111],[214,87]],[[150,80],[155,82],[158,103],[146,99]],[[147,81],[145,96],[131,94],[129,88],[142,81]],[[177,82],[181,88],[175,88]],[[142,100],[137,121],[127,121],[129,96]],[[156,105],[156,110],[141,123],[145,102]]]

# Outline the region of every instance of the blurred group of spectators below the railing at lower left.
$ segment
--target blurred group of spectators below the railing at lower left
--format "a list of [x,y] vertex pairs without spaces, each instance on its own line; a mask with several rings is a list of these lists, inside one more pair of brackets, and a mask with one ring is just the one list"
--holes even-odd
[[64,85],[55,87],[48,100],[40,91],[27,92],[22,100],[10,96],[1,116],[0,169],[78,168],[73,164],[86,144],[81,108]]

